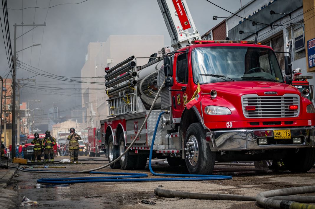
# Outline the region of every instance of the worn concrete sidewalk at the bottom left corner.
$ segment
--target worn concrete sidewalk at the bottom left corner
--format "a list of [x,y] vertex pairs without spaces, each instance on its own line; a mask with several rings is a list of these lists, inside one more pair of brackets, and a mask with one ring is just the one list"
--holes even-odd
[[16,171],[16,168],[0,168],[0,208],[19,207],[18,192],[12,189],[5,189],[10,183]]

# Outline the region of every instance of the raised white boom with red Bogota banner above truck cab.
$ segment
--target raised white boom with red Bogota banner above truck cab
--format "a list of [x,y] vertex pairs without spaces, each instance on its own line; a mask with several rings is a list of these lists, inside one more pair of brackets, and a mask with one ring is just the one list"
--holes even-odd
[[[200,35],[192,20],[186,0],[157,0],[174,49],[200,40]],[[188,30],[189,29],[189,30]]]

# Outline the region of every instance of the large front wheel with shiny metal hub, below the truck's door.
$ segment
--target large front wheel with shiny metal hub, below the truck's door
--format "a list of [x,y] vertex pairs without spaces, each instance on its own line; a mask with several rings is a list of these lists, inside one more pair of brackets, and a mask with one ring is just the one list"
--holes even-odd
[[[215,165],[215,152],[210,151],[204,129],[199,123],[191,124],[185,137],[185,161],[191,174],[211,174]],[[188,153],[188,154],[186,154]]]

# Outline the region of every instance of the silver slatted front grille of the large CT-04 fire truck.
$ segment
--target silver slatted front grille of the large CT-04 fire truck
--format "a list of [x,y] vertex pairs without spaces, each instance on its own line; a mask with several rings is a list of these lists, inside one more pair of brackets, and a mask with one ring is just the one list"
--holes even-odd
[[[297,105],[297,110],[289,110],[289,105]],[[300,97],[296,94],[284,96],[242,96],[243,113],[246,118],[289,118],[297,117],[300,112]],[[248,111],[246,106],[255,106],[255,111]]]

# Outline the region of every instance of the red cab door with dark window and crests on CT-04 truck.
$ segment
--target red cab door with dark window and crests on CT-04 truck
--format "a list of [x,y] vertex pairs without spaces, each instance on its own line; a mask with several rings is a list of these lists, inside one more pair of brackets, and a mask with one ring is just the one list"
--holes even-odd
[[183,112],[187,102],[188,95],[186,91],[182,91],[182,87],[187,87],[188,83],[188,54],[181,53],[175,54],[174,64],[175,72],[173,73],[174,77],[174,85],[172,89],[177,89],[178,91],[172,91],[172,118],[175,123],[180,122],[181,113]]

